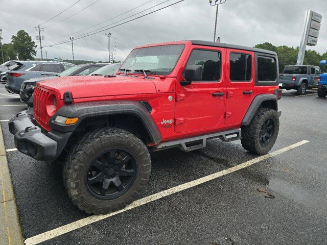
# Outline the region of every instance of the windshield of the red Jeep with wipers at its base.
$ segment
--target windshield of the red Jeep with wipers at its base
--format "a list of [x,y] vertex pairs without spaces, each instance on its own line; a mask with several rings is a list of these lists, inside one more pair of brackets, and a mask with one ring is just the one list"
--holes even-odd
[[153,75],[169,75],[184,49],[184,44],[136,48],[127,56],[121,69],[131,70],[132,73],[147,73]]

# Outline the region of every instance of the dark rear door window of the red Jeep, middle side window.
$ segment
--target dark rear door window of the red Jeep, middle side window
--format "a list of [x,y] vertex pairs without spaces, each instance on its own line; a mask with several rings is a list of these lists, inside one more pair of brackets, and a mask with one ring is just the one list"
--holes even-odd
[[252,56],[240,53],[229,55],[229,79],[231,82],[246,82],[252,78]]

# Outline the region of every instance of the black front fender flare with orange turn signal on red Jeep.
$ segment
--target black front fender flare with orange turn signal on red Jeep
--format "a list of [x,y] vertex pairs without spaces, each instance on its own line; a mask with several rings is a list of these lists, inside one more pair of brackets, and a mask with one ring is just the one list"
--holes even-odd
[[[161,133],[149,113],[141,103],[136,101],[104,101],[85,102],[72,105],[65,105],[51,117],[49,126],[61,132],[72,132],[86,118],[109,116],[118,114],[131,114],[139,118],[146,128],[151,142],[157,144],[161,141]],[[54,122],[57,115],[64,117],[79,117],[79,121],[74,125],[59,125]]]

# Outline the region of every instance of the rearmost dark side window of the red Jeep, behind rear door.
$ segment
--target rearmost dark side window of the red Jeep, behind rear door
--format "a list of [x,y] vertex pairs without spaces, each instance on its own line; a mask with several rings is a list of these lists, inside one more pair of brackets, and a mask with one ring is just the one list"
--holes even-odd
[[258,56],[258,81],[273,82],[276,80],[277,65],[273,57]]

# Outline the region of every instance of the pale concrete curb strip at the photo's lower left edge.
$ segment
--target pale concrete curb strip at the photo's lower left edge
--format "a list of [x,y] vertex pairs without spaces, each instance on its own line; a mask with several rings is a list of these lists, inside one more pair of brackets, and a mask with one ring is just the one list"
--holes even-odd
[[0,244],[24,244],[0,124]]

